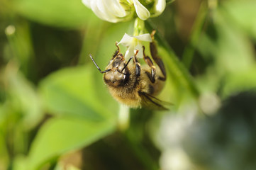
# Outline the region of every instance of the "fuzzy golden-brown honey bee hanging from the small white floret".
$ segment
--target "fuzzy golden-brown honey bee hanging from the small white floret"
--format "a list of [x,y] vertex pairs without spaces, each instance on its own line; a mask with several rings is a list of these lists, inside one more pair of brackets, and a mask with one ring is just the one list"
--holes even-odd
[[[126,62],[123,54],[116,42],[117,50],[108,63],[106,70],[101,71],[99,66],[90,55],[97,69],[104,74],[104,82],[110,94],[118,102],[130,108],[150,108],[157,110],[167,110],[162,106],[162,101],[155,98],[162,91],[165,85],[166,72],[165,65],[160,56],[157,55],[157,47],[154,40],[155,32],[152,32],[152,42],[150,42],[150,53],[152,59],[157,64],[156,67],[150,57],[145,55],[143,46],[143,59],[146,64],[140,65],[138,62],[138,50],[135,55]],[[132,63],[131,60],[133,60]]]

